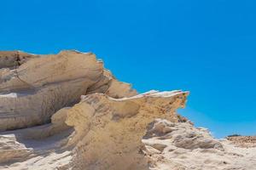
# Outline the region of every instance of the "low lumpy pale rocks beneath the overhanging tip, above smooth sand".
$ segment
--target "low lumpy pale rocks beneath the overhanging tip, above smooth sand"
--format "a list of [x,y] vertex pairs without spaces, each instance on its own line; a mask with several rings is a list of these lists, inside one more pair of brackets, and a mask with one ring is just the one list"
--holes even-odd
[[[143,141],[150,145],[150,141],[155,139],[160,141],[167,140],[169,144],[186,150],[224,150],[223,145],[217,139],[213,139],[206,129],[195,128],[189,122],[176,123],[156,119],[151,123],[151,127],[148,129],[148,133],[144,136]],[[168,144],[162,144],[162,147],[164,145],[167,146]]]

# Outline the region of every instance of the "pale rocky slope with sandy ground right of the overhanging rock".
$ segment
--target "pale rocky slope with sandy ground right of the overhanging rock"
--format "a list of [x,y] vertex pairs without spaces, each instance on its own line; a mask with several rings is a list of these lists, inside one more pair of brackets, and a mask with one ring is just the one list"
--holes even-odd
[[143,138],[153,169],[253,170],[256,148],[236,147],[226,139],[213,139],[206,128],[191,122],[156,119]]

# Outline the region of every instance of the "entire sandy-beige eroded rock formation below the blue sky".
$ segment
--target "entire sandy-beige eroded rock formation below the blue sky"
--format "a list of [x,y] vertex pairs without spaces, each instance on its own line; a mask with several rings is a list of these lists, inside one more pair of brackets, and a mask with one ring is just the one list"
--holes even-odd
[[0,169],[252,169],[256,149],[176,111],[189,92],[137,94],[95,54],[0,52]]

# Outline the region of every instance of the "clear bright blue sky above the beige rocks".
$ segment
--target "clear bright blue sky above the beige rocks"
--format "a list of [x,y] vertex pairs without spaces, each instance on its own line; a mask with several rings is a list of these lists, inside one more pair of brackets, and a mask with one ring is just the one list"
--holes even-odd
[[139,92],[191,92],[180,111],[217,137],[256,134],[256,1],[5,0],[0,49],[92,51]]

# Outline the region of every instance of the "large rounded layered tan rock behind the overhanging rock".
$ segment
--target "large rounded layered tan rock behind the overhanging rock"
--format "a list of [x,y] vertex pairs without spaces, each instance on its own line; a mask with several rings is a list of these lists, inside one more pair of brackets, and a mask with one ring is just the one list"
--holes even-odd
[[98,92],[116,98],[137,94],[129,84],[116,81],[90,53],[40,55],[15,69],[1,71],[0,130],[49,122],[55,111],[78,103],[82,94]]

